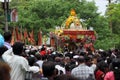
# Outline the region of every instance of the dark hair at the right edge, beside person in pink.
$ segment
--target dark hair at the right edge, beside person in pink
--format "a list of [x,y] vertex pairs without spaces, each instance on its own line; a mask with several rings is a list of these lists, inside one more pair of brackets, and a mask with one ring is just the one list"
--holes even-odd
[[115,80],[120,80],[120,59],[116,58],[113,60],[112,70],[114,72]]

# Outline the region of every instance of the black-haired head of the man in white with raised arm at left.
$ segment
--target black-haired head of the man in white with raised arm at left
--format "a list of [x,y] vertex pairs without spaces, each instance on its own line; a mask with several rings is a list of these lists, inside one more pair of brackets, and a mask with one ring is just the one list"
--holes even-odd
[[23,51],[23,46],[24,46],[24,43],[22,42],[15,42],[13,44],[13,53],[15,55],[21,55],[22,54],[22,51]]

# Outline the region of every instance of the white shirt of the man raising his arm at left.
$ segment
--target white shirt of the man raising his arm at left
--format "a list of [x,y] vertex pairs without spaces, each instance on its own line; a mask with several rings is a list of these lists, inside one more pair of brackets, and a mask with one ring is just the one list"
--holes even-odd
[[25,80],[25,72],[29,71],[28,61],[22,56],[14,55],[12,48],[2,57],[11,67],[11,80]]

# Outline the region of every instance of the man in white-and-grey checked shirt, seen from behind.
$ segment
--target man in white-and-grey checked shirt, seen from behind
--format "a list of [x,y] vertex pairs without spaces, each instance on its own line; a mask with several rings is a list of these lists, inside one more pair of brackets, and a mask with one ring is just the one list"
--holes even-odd
[[94,80],[94,71],[85,64],[85,58],[79,56],[78,60],[79,65],[72,69],[71,74],[79,80]]

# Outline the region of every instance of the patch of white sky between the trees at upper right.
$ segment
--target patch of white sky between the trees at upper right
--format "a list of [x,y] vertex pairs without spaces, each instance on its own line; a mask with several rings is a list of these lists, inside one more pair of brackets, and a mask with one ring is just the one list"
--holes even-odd
[[[87,0],[87,1],[93,1],[93,0]],[[101,13],[101,15],[105,14],[106,6],[108,4],[107,0],[94,0],[95,5],[98,6],[98,12]]]

